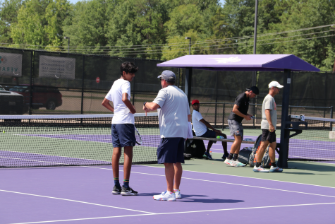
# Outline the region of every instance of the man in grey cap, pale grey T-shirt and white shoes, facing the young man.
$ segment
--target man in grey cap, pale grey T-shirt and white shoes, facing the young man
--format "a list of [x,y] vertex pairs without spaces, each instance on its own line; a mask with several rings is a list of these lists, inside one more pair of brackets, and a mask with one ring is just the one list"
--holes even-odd
[[[162,89],[153,102],[144,102],[143,110],[158,111],[161,141],[157,148],[158,163],[164,163],[167,190],[154,195],[154,200],[176,201],[181,199],[181,175],[184,163],[184,143],[190,122],[190,107],[183,90],[174,86],[176,75],[169,70],[162,72]],[[174,183],[173,183],[174,180]]]

